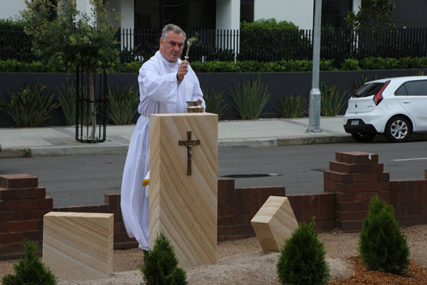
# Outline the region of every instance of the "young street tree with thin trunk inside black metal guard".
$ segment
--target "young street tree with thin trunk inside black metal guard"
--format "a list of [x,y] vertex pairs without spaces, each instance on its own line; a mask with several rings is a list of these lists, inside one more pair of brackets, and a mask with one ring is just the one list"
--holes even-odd
[[[43,63],[60,63],[67,71],[80,66],[88,76],[90,91],[92,133],[95,138],[96,110],[92,72],[94,68],[107,70],[119,62],[115,48],[116,27],[112,21],[121,17],[115,9],[107,11],[108,3],[89,0],[93,7],[90,14],[78,11],[76,0],[25,0],[27,9],[21,16],[28,22],[24,31],[33,37],[33,51]],[[110,18],[111,16],[111,18]]]

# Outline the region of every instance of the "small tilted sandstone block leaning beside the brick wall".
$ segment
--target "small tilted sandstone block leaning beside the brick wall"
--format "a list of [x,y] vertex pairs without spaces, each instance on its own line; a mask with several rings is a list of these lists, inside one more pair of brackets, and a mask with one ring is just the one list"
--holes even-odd
[[251,220],[263,252],[279,252],[284,239],[298,227],[287,197],[270,196]]

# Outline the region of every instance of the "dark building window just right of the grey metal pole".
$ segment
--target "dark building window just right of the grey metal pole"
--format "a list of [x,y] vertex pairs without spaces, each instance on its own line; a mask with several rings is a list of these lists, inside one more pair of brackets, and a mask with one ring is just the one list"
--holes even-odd
[[322,26],[346,28],[344,18],[352,7],[352,0],[322,0]]

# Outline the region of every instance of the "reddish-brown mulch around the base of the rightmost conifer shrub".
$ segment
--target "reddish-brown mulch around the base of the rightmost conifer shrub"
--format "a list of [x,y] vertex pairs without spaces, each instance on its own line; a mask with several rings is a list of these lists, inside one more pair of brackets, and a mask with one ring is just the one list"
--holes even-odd
[[359,262],[359,257],[349,259],[354,263],[354,275],[347,279],[330,282],[329,285],[426,285],[427,269],[411,262],[406,276],[399,276],[380,271],[367,271]]

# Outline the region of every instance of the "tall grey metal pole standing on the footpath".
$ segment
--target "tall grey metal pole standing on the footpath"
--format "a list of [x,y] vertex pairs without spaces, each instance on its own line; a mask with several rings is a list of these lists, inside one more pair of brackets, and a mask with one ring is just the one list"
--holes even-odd
[[307,133],[322,133],[320,128],[320,19],[322,16],[322,0],[315,0],[315,25],[313,27],[313,69],[312,89],[310,90],[310,102],[308,113]]

